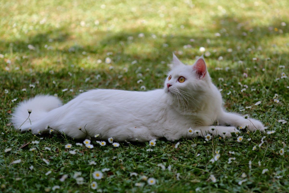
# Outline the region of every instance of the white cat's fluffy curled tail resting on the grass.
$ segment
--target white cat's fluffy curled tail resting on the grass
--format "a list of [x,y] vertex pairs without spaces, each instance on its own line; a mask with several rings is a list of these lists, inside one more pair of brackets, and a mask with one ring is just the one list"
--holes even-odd
[[[60,106],[62,106],[62,102],[57,97],[50,95],[37,95],[34,98],[18,104],[12,114],[11,121],[15,129],[25,131],[31,124],[33,124],[33,122],[44,118],[49,111]],[[31,110],[29,116],[30,120],[26,120],[29,115],[28,110]]]

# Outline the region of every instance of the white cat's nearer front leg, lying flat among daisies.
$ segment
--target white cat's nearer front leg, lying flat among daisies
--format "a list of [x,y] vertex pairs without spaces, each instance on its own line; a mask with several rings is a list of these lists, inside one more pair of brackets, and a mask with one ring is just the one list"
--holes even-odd
[[197,126],[194,127],[194,136],[205,136],[207,134],[220,135],[231,137],[231,133],[239,133],[240,131],[236,127],[227,126]]

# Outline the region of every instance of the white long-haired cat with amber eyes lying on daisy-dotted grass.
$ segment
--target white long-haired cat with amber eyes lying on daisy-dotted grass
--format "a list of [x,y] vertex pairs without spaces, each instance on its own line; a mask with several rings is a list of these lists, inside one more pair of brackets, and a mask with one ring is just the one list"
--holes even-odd
[[[31,123],[26,121],[21,126],[28,116],[27,109],[32,110]],[[12,122],[16,129],[31,128],[35,134],[48,132],[50,127],[72,138],[85,138],[87,132],[89,136],[100,134],[101,139],[113,137],[118,141],[161,137],[173,141],[208,133],[231,136],[231,132],[238,132],[238,126],[264,130],[255,119],[224,111],[221,93],[212,83],[203,57],[189,66],[175,55],[163,89],[94,89],[63,106],[54,96],[37,95],[18,105]],[[188,128],[199,132],[190,133]]]

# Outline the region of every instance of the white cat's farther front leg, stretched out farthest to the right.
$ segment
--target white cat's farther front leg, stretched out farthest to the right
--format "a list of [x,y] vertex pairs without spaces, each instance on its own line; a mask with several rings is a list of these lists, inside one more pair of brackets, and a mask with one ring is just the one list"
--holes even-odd
[[250,117],[245,119],[244,117],[235,113],[227,113],[223,111],[222,114],[218,117],[218,121],[220,125],[230,125],[242,128],[247,126],[247,128],[251,131],[264,131],[264,126],[260,121]]

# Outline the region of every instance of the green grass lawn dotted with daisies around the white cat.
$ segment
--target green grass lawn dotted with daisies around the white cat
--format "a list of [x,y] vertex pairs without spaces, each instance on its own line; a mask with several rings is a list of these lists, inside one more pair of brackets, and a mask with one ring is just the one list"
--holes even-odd
[[[289,110],[288,78],[281,78],[282,72],[289,73],[288,6],[286,0],[2,2],[1,192],[94,192],[92,181],[99,192],[288,192],[288,123],[278,122],[288,121]],[[205,47],[208,71],[222,89],[225,108],[250,114],[275,133],[243,131],[241,142],[236,137],[180,139],[178,148],[177,141],[165,139],[154,147],[120,143],[114,148],[93,141],[95,147],[87,149],[65,135],[19,133],[10,123],[16,104],[40,93],[67,102],[80,90],[162,88],[172,52],[192,64],[202,54],[200,47]],[[244,85],[248,88],[241,92]],[[276,93],[278,103],[273,100]],[[255,106],[257,101],[262,103]],[[35,140],[39,144],[31,143]],[[4,152],[7,148],[12,150]],[[221,157],[212,163],[215,150]],[[228,163],[232,157],[236,159]],[[18,159],[20,163],[12,164]],[[104,168],[110,171],[101,180],[92,178]],[[75,172],[81,172],[83,184],[77,184]],[[68,178],[62,182],[64,174]],[[148,185],[142,175],[155,178],[156,184]],[[246,181],[240,185],[241,180]],[[136,187],[138,182],[143,186]],[[55,185],[60,189],[53,190]]]

